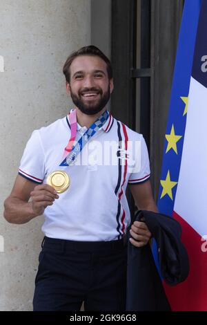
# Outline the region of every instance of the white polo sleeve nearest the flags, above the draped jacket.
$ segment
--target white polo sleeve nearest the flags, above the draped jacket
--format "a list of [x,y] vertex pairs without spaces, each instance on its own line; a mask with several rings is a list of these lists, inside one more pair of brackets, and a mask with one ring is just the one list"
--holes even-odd
[[140,135],[139,146],[135,150],[135,167],[132,168],[128,184],[140,184],[150,178],[150,161],[148,149],[143,136]]

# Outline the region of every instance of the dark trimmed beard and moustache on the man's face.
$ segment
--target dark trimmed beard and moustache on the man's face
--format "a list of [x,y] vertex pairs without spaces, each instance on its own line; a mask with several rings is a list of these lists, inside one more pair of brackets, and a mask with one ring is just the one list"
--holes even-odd
[[[82,100],[82,93],[90,93],[97,92],[100,95],[100,99],[97,101],[92,100],[91,102],[84,102]],[[108,101],[110,100],[110,85],[108,84],[108,90],[103,93],[102,89],[92,87],[92,88],[84,88],[78,92],[78,95],[72,92],[70,89],[70,96],[72,98],[72,102],[77,106],[77,108],[84,114],[87,115],[95,115],[102,111],[102,109],[106,106]],[[95,103],[96,102],[96,103]]]

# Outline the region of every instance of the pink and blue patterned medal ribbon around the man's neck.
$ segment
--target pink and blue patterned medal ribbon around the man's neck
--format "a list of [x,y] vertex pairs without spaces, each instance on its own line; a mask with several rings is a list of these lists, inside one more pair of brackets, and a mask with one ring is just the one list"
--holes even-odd
[[99,116],[99,118],[97,118],[97,120],[92,125],[90,125],[90,127],[86,130],[83,136],[81,136],[75,146],[74,142],[77,133],[76,109],[68,115],[71,135],[70,140],[68,141],[68,145],[66,145],[66,148],[64,149],[63,161],[59,166],[69,166],[75,161],[75,159],[80,154],[81,150],[83,150],[83,147],[90,140],[90,138],[92,138],[92,136],[95,136],[95,133],[97,133],[97,131],[99,131],[99,129],[103,127],[103,124],[108,119],[108,115],[108,111],[104,111],[103,114]]

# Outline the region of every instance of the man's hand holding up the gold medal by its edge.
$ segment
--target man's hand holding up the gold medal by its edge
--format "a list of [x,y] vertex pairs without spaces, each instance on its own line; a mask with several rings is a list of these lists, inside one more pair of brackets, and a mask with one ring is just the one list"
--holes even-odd
[[32,198],[32,210],[37,216],[43,214],[46,207],[52,205],[55,199],[59,198],[56,190],[47,184],[35,186],[30,197]]

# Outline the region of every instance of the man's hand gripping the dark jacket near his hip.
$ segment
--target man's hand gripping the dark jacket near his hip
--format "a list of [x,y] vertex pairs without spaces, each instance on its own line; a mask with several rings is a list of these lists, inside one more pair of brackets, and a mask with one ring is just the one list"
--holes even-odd
[[136,247],[142,247],[146,245],[152,236],[150,230],[148,230],[146,223],[141,221],[135,221],[132,224],[130,235],[132,236],[132,238],[130,238],[130,243]]

